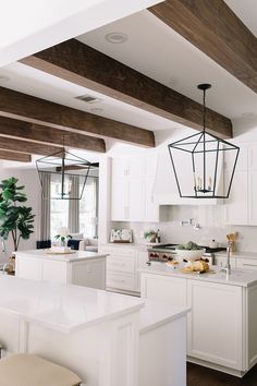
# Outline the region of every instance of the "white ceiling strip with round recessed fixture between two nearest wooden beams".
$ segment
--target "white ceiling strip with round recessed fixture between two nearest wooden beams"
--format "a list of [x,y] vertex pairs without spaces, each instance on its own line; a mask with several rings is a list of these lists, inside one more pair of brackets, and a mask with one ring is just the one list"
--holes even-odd
[[[144,26],[144,27],[142,27]],[[121,32],[124,44],[110,44],[106,34]],[[199,83],[211,83],[207,105],[229,117],[255,113],[257,96],[186,39],[148,11],[89,32],[78,39],[147,76],[201,102]]]

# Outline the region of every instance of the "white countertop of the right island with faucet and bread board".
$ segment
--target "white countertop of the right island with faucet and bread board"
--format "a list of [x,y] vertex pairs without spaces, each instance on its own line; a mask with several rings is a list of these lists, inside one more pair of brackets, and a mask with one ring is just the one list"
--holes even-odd
[[183,274],[180,269],[171,269],[163,263],[152,264],[147,268],[138,269],[139,273],[172,276],[178,278],[194,279],[209,282],[220,282],[230,286],[249,287],[257,284],[257,270],[246,270],[232,268],[232,273],[227,280],[225,273],[220,267],[211,266],[210,273],[205,274]]

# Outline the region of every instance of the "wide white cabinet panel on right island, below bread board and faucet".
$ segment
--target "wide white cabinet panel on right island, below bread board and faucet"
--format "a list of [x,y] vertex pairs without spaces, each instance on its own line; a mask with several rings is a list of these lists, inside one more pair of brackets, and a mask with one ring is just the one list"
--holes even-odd
[[187,354],[242,370],[242,288],[187,280]]

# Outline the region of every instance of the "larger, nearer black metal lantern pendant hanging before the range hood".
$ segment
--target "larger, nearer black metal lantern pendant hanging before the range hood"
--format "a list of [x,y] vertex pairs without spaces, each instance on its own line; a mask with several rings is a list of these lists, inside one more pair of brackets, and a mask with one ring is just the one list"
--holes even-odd
[[[197,86],[199,89],[204,92],[204,98],[203,98],[203,128],[204,130],[200,133],[196,133],[193,135],[189,135],[183,140],[179,140],[176,142],[173,142],[168,145],[169,148],[169,154],[171,158],[171,164],[173,167],[174,171],[174,177],[179,190],[180,197],[183,198],[228,198],[230,195],[231,191],[231,185],[233,182],[234,178],[234,171],[235,167],[237,164],[238,159],[238,154],[240,154],[240,147],[235,146],[234,144],[221,140],[216,135],[212,135],[210,133],[206,132],[206,91],[211,87],[210,84],[200,84]],[[208,148],[208,146],[217,143],[216,148]],[[186,148],[186,146],[192,147],[192,149]],[[193,173],[193,181],[194,181],[194,195],[188,195],[188,194],[183,194],[181,184],[179,181],[179,176],[176,172],[175,168],[175,161],[174,161],[174,156],[172,152],[174,150],[181,150],[181,152],[186,152],[191,154],[191,161],[192,161],[192,173]],[[215,159],[215,172],[211,178],[209,178],[209,183],[207,183],[207,176],[206,176],[206,157],[208,153],[216,153],[216,159]],[[227,194],[216,194],[216,188],[217,188],[217,173],[218,173],[218,167],[219,167],[219,153],[220,152],[235,152],[235,159],[234,159],[234,165],[232,167],[232,173],[231,173],[231,179],[228,185]],[[201,182],[197,183],[196,181],[196,169],[195,169],[195,156],[199,154],[203,154],[203,174],[200,178],[200,181],[203,180],[203,185]],[[181,165],[180,165],[181,167]],[[213,182],[212,182],[213,181]]]

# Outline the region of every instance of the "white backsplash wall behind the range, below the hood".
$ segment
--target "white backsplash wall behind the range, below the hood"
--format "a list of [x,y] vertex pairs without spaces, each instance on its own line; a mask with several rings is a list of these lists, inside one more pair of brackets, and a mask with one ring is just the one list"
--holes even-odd
[[[227,234],[238,232],[236,251],[257,252],[257,227],[225,226],[224,207],[216,206],[169,206],[166,207],[168,221],[166,222],[112,222],[112,228],[130,228],[133,230],[135,243],[143,243],[140,237],[145,230],[160,230],[161,242],[185,243],[189,240],[208,245],[216,240],[219,246],[227,245]],[[192,225],[181,226],[181,221],[192,219]],[[199,225],[199,229],[195,226]]]

